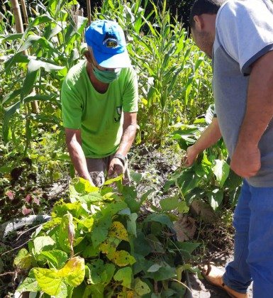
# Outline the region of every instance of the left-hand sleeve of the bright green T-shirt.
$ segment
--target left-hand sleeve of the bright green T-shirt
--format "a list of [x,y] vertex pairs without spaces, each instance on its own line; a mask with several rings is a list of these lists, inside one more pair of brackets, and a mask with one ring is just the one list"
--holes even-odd
[[70,87],[67,80],[62,84],[62,121],[65,128],[79,129],[82,126],[82,100]]

